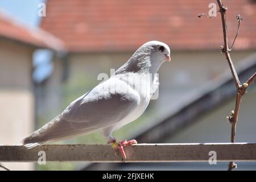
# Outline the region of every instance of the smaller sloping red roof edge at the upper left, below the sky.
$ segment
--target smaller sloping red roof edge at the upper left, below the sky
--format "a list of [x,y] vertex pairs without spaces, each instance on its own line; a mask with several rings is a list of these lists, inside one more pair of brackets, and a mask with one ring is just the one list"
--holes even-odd
[[28,27],[0,11],[0,36],[40,48],[64,50],[64,42],[41,28]]

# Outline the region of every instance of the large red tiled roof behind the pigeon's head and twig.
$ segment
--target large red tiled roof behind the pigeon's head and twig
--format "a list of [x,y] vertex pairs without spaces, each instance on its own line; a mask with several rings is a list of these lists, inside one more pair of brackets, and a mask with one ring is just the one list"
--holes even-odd
[[[149,40],[172,49],[218,49],[223,44],[220,14],[207,19],[212,0],[48,0],[41,27],[64,40],[70,51],[129,51]],[[234,48],[256,48],[256,3],[223,0],[228,6],[229,44],[243,16]],[[218,5],[217,5],[218,10]]]

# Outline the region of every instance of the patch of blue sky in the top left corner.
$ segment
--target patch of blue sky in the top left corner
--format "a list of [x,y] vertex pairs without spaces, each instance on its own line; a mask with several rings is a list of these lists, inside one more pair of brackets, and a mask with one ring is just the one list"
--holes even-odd
[[1,0],[0,7],[10,15],[30,26],[38,26],[38,4],[45,0]]

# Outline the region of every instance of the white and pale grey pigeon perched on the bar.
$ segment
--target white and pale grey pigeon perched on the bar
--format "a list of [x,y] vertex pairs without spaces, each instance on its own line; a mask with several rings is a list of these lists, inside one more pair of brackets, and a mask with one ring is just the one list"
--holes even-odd
[[45,142],[78,137],[101,131],[126,159],[124,146],[137,144],[135,139],[119,142],[113,131],[141,116],[158,88],[158,69],[171,61],[170,48],[159,41],[150,41],[135,51],[130,59],[106,81],[73,101],[61,114],[34,131],[22,143],[33,148]]

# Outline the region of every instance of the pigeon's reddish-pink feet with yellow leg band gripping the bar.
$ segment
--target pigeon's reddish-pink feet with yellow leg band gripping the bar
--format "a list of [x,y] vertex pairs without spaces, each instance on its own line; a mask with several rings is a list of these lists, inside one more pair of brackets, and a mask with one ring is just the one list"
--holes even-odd
[[132,139],[130,141],[127,142],[127,140],[122,140],[121,142],[119,142],[118,140],[109,140],[107,142],[107,144],[112,144],[112,148],[115,149],[115,154],[119,154],[119,150],[122,153],[123,159],[126,159],[126,154],[125,151],[123,150],[123,147],[125,146],[130,146],[132,144],[137,144],[137,141],[135,139]]

